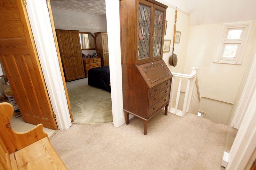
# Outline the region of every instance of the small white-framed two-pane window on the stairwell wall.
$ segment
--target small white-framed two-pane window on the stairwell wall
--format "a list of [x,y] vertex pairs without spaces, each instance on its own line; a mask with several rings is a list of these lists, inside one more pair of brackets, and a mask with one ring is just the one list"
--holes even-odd
[[223,24],[214,63],[241,64],[252,22]]

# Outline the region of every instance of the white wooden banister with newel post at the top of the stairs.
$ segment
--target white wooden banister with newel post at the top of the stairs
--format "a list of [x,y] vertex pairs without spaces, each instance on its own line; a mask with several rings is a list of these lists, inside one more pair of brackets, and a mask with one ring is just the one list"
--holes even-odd
[[[199,68],[193,67],[191,69],[192,71],[190,74],[172,72],[173,77],[172,77],[171,96],[170,96],[171,102],[170,102],[169,112],[175,115],[184,116],[187,113],[197,114],[199,110],[200,101],[201,101],[198,79],[197,79],[197,70]],[[174,89],[175,89],[174,80],[176,79],[176,77],[179,77],[180,81],[178,84],[177,96],[175,100],[173,99],[173,95],[174,95]],[[186,84],[183,107],[182,107],[182,110],[179,110],[178,106],[180,101],[181,84],[182,84],[182,80],[184,79],[187,79],[187,84]],[[174,107],[172,107],[172,105],[174,104],[173,101],[175,101]]]

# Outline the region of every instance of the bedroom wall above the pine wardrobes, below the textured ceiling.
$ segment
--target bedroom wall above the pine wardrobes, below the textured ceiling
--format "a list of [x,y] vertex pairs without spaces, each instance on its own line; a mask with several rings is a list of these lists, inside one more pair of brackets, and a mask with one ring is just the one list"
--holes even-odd
[[79,30],[83,32],[107,32],[106,15],[52,7],[55,29]]

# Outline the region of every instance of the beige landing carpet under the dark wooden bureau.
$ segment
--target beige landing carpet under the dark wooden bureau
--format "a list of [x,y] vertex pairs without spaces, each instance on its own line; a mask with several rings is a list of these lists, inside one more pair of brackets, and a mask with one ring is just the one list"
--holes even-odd
[[193,114],[160,111],[148,123],[134,117],[119,128],[112,123],[72,125],[52,138],[68,169],[224,169],[237,130]]

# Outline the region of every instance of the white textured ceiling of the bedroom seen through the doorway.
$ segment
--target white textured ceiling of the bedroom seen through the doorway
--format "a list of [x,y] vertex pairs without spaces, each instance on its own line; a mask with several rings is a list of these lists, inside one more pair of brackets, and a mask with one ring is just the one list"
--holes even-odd
[[106,15],[105,0],[51,0],[51,6]]

